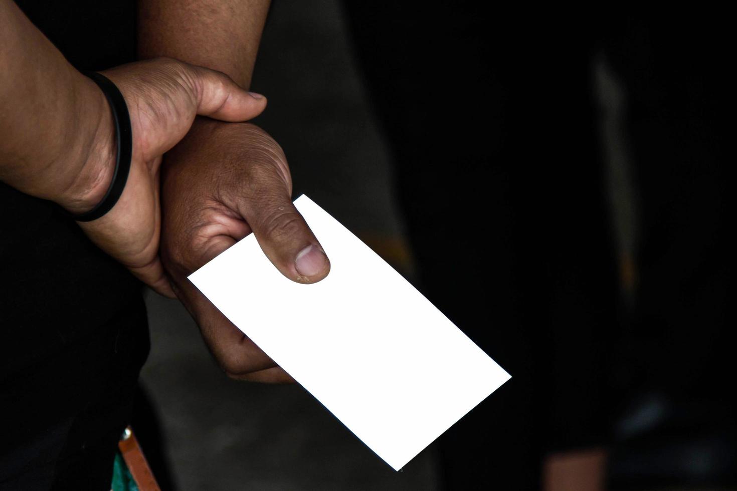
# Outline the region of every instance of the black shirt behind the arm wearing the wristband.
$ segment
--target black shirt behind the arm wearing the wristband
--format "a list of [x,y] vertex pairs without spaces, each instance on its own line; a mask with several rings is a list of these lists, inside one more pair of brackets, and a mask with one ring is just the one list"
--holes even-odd
[[[80,69],[135,59],[135,2],[18,1]],[[110,319],[140,293],[51,202],[0,183],[0,377],[13,376]]]

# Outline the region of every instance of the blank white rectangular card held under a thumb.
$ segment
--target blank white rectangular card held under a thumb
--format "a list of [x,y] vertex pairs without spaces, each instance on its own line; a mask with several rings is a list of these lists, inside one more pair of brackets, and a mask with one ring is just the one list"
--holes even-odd
[[327,278],[284,278],[251,234],[189,279],[399,470],[509,374],[311,199],[295,205],[330,258]]

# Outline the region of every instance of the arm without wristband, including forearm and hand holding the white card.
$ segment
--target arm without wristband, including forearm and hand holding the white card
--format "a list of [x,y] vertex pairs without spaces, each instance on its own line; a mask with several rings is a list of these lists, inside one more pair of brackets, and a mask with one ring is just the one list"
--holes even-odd
[[[141,8],[142,57],[181,57],[248,87],[268,1],[157,0]],[[186,279],[251,231],[287,278],[312,283],[327,275],[329,261],[292,204],[282,149],[252,124],[198,119],[167,153],[162,179],[161,257],[214,357],[233,378],[290,381]]]

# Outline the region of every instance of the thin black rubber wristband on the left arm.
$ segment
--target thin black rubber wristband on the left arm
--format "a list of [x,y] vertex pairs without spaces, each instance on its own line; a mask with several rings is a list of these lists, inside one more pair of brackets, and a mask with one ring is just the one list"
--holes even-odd
[[91,222],[99,219],[100,216],[111,211],[113,206],[123,194],[125,182],[128,180],[128,172],[130,172],[130,158],[133,153],[133,135],[130,130],[130,115],[128,114],[128,106],[125,105],[123,94],[108,77],[98,74],[96,71],[85,73],[102,89],[105,99],[113,113],[113,122],[115,123],[115,140],[117,142],[117,150],[115,155],[115,170],[113,171],[113,180],[110,183],[108,191],[102,200],[95,205],[90,211],[75,215],[67,212],[71,218],[77,222]]

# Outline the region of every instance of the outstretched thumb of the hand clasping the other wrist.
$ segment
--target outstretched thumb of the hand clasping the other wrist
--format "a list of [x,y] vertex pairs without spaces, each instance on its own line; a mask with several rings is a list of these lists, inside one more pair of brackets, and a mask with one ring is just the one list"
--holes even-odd
[[221,71],[189,66],[197,90],[197,113],[221,121],[248,121],[266,108],[266,98],[240,88]]

